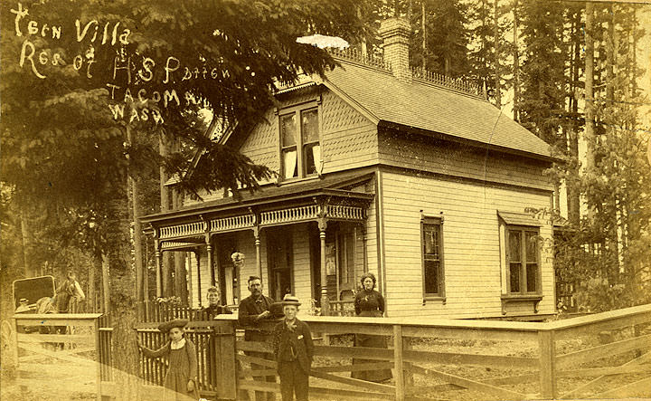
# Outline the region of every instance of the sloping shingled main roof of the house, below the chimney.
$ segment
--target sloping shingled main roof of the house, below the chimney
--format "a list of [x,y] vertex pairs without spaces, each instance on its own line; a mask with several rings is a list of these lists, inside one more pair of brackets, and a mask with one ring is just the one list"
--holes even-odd
[[494,105],[426,81],[398,81],[391,72],[337,58],[324,84],[374,123],[424,129],[495,148],[549,158],[550,147]]

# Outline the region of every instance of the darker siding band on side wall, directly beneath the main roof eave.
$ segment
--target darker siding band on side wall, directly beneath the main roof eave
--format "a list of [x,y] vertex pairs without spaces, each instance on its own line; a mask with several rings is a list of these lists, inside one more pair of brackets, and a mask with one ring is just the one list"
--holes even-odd
[[[415,146],[418,144],[417,146]],[[379,134],[380,162],[454,177],[551,190],[542,174],[548,166],[424,136]],[[526,167],[525,167],[526,166]]]

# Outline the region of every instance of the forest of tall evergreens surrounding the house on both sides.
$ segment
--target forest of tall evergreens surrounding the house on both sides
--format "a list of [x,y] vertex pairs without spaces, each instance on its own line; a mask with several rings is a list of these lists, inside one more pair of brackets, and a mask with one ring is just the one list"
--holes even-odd
[[[179,207],[183,196],[203,190],[255,190],[274,174],[206,138],[204,106],[221,131],[247,129],[273,104],[275,82],[335,67],[325,51],[296,43],[298,36],[332,34],[361,52],[382,53],[377,29],[393,15],[410,21],[412,67],[486,88],[496,107],[552,146],[555,207],[532,213],[558,225],[557,278],[577,285],[580,307],[651,301],[651,40],[643,29],[651,5],[52,0],[1,7],[3,319],[13,313],[15,279],[52,274],[61,282],[76,272],[85,309],[110,311],[116,339],[131,339],[133,305],[156,296],[154,245],[137,217]],[[63,27],[59,37],[54,26]],[[125,88],[169,89],[169,57],[215,75],[178,75],[172,83],[181,101],[163,107],[148,100],[136,119],[115,119],[116,87],[131,106],[137,102]],[[199,151],[204,168],[175,190],[165,186],[184,177]],[[187,302],[184,264],[184,253],[164,258],[165,300]],[[135,366],[128,351],[120,358],[125,371]]]

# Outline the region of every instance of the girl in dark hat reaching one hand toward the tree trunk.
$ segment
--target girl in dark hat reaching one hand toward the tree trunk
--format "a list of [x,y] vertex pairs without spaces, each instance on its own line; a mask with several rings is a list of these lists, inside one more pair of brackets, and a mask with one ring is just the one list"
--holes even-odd
[[165,321],[158,329],[166,333],[169,341],[163,348],[152,350],[137,341],[138,349],[147,358],[169,358],[169,367],[165,375],[165,401],[188,401],[199,398],[197,391],[197,359],[194,344],[184,338],[184,327],[188,320],[175,319]]

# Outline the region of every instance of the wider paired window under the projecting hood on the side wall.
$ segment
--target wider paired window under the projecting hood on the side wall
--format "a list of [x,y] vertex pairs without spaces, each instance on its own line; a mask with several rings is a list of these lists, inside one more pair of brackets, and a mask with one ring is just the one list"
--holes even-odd
[[506,225],[506,266],[511,294],[538,293],[541,289],[538,237],[538,227]]

